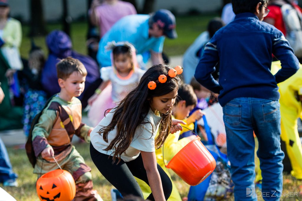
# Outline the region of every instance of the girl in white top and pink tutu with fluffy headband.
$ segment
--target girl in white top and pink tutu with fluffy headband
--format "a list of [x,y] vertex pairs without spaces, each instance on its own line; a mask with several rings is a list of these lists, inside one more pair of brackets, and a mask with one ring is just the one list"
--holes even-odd
[[135,48],[129,42],[111,42],[106,49],[112,49],[112,66],[101,68],[103,82],[88,99],[88,118],[93,126],[138,85],[145,72],[138,68]]

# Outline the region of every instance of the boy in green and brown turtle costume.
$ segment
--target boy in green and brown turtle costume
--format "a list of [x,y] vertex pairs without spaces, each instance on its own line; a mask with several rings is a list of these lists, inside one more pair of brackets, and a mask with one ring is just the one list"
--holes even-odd
[[[34,152],[34,173],[42,174],[58,169],[59,165],[72,174],[76,182],[74,201],[102,200],[93,190],[91,168],[85,164],[83,157],[71,144],[75,134],[90,142],[91,127],[81,123],[82,104],[76,97],[85,87],[87,71],[78,60],[67,57],[57,64],[60,93],[53,96],[46,108],[40,113],[31,132],[32,152]],[[27,149],[28,153],[28,149]]]

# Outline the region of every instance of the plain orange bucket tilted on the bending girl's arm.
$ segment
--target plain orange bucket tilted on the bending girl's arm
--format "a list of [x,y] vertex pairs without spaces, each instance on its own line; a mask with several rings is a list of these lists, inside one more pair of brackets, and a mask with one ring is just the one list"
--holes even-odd
[[200,137],[196,137],[182,148],[166,167],[171,168],[187,184],[196,186],[214,171],[216,161],[201,143]]

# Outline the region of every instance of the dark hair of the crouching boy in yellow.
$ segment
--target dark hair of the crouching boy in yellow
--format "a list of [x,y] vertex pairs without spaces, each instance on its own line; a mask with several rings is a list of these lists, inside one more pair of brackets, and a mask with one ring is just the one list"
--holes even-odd
[[193,87],[189,84],[182,84],[178,89],[178,97],[176,102],[186,101],[186,107],[189,105],[197,105],[197,96],[194,93]]

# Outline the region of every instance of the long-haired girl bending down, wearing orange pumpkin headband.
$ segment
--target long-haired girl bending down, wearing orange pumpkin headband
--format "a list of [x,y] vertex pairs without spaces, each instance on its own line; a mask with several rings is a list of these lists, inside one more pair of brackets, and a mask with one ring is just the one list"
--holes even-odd
[[162,64],[149,68],[138,86],[91,132],[92,161],[123,196],[143,198],[134,177],[150,186],[147,199],[167,200],[171,194],[171,180],[156,163],[155,149],[171,131],[182,129],[178,123],[184,123],[171,118],[180,84],[174,71]]

